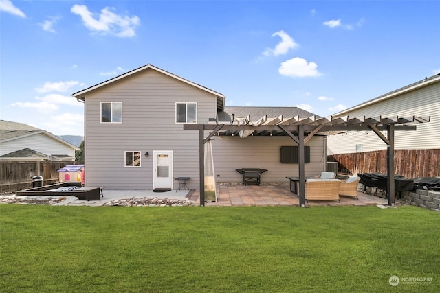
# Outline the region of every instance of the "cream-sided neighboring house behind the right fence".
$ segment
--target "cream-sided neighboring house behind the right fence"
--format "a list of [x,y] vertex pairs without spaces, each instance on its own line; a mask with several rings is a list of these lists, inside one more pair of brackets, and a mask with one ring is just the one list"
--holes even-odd
[[[440,75],[425,78],[375,99],[353,106],[333,117],[419,117],[430,116],[430,123],[417,124],[417,131],[395,133],[395,150],[440,148]],[[373,132],[348,132],[327,137],[327,154],[349,154],[386,149]]]

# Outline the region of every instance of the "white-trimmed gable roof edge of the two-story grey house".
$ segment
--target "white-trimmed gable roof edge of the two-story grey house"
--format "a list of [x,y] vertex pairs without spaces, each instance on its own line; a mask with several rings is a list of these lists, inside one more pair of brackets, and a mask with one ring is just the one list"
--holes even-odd
[[116,76],[115,78],[111,78],[109,80],[106,80],[104,82],[100,82],[99,84],[95,84],[94,86],[90,86],[87,89],[83,89],[82,91],[77,91],[76,93],[73,93],[72,96],[76,97],[77,99],[81,99],[81,100],[85,100],[85,96],[87,93],[94,91],[96,89],[99,89],[102,86],[106,86],[107,84],[111,84],[112,82],[121,80],[122,78],[126,78],[130,75],[133,75],[135,73],[138,73],[140,71],[144,71],[146,69],[153,69],[157,72],[163,73],[165,75],[170,76],[171,78],[175,78],[176,80],[180,80],[181,82],[185,82],[186,84],[190,84],[191,86],[195,86],[197,89],[201,89],[203,91],[206,91],[208,93],[211,93],[212,95],[215,95],[217,97],[217,108],[219,109],[223,109],[223,107],[225,106],[225,95],[223,95],[222,93],[219,93],[217,91],[213,91],[212,89],[208,89],[206,86],[201,86],[200,84],[196,84],[195,82],[191,82],[190,80],[186,80],[185,78],[181,78],[178,75],[175,75],[173,73],[170,73],[168,71],[165,71],[164,69],[160,69],[159,67],[155,67],[151,64],[147,64],[144,65],[142,67],[139,67],[137,69],[133,69],[132,71],[123,73],[121,75]]

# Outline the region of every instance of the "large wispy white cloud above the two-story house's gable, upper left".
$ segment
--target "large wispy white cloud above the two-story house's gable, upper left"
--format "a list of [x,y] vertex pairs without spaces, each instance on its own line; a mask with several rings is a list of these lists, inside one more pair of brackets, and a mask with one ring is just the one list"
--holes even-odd
[[139,17],[118,15],[112,10],[115,8],[106,7],[100,14],[95,14],[85,5],[73,5],[71,8],[72,13],[81,16],[84,25],[92,32],[113,34],[122,38],[135,36],[135,27],[140,24]]

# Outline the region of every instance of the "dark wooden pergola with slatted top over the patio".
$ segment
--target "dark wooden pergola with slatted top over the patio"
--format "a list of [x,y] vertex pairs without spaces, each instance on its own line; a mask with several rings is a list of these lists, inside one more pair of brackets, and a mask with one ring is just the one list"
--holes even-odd
[[[289,136],[298,144],[298,177],[300,207],[305,207],[305,145],[316,134],[327,135],[347,131],[373,131],[387,145],[387,189],[388,205],[395,204],[394,185],[394,133],[395,131],[415,131],[413,124],[426,123],[429,117],[261,117],[253,123],[250,117],[232,121],[212,121],[208,124],[184,124],[184,130],[199,130],[199,176],[200,176],[200,205],[205,205],[204,188],[204,144],[214,135],[218,136]],[[210,134],[204,137],[205,130]],[[386,131],[386,136],[382,133]]]

